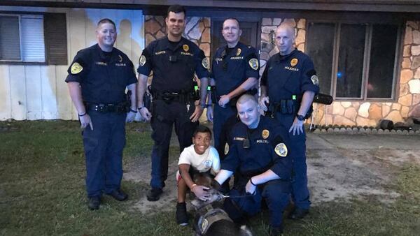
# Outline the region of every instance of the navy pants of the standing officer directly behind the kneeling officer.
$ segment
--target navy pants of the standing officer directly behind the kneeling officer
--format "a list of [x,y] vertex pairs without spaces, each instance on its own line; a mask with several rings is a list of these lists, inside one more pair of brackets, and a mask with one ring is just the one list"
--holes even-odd
[[220,105],[214,105],[214,147],[216,148],[221,160],[225,158],[225,145],[228,142],[228,133],[232,126],[237,123],[237,110],[229,105],[222,108]]

